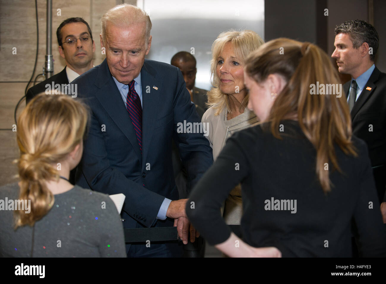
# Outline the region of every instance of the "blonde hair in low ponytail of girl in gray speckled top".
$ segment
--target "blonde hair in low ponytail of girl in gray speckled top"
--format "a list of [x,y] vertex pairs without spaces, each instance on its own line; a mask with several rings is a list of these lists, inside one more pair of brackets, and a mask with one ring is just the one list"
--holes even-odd
[[54,204],[46,181],[59,179],[57,163],[73,151],[85,133],[88,113],[67,95],[38,95],[17,120],[19,199],[31,200],[30,213],[15,211],[15,228],[42,218]]

